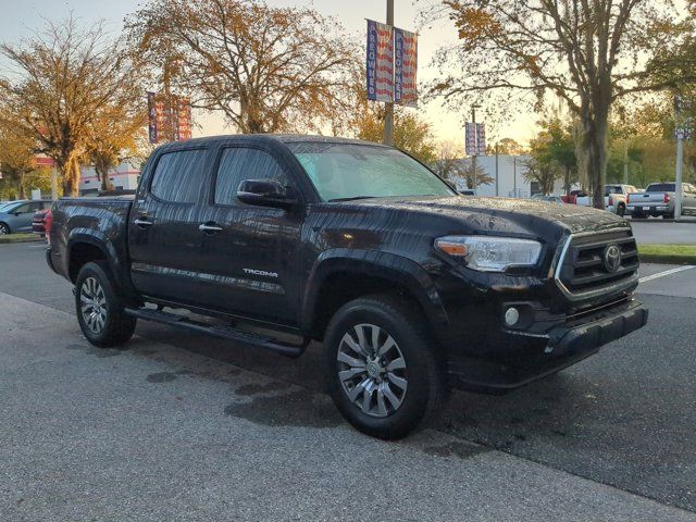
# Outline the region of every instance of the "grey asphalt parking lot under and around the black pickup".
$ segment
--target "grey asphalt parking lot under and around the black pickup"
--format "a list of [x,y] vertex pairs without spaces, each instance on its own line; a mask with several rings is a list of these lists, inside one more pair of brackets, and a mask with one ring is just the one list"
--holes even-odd
[[323,395],[320,346],[141,323],[97,350],[42,246],[0,246],[0,518],[696,521],[696,268],[673,269],[643,268],[642,331],[383,443]]

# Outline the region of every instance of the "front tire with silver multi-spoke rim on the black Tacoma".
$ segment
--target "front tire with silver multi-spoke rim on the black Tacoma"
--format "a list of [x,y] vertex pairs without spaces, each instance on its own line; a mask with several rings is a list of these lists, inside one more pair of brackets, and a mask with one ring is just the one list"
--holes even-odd
[[[346,335],[350,335],[353,344],[359,339],[358,325],[360,328],[376,326],[382,332],[377,334],[377,346],[384,349],[391,337],[396,348],[385,351],[378,358],[381,361],[370,362],[370,357],[360,356],[344,340]],[[370,332],[374,331],[363,330],[364,338],[369,339],[365,340],[370,345],[368,349],[374,345]],[[378,294],[348,302],[332,318],[324,348],[331,397],[344,418],[368,435],[383,439],[402,438],[425,427],[446,401],[444,361],[438,346],[423,322],[420,308],[403,297]],[[341,381],[339,372],[345,375],[353,369],[359,370],[357,364],[351,366],[337,359],[341,351],[344,356],[356,355],[353,360],[364,363],[365,370]],[[395,369],[400,364],[405,366],[402,370]],[[384,373],[372,378],[368,369],[375,370],[376,366],[382,366]],[[406,388],[397,386],[398,382],[406,383]],[[365,401],[370,387],[371,395]],[[351,399],[349,394],[357,395]],[[399,398],[400,402],[395,407],[393,399]],[[369,405],[368,412],[365,403]]]

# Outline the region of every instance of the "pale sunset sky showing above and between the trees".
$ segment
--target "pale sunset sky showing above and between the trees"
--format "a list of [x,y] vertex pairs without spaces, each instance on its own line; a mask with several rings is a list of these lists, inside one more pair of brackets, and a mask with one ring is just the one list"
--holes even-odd
[[[137,11],[144,0],[0,0],[0,41],[16,42],[30,36],[45,24],[45,18],[60,20],[72,11],[80,23],[90,25],[103,18],[114,32],[121,29],[126,14]],[[365,34],[365,18],[384,22],[386,17],[385,0],[268,0],[271,5],[313,5],[324,15],[334,16],[353,36],[362,38]],[[420,4],[419,4],[420,5]],[[432,28],[419,27],[418,7],[412,0],[395,0],[395,25],[407,30],[419,30],[419,80],[435,77],[436,70],[430,66],[436,49],[453,42],[456,32],[449,22],[442,22]],[[414,109],[409,109],[414,110]],[[432,124],[438,139],[451,140],[463,146],[463,122],[470,114],[470,108],[462,104],[460,110],[443,108],[439,102],[430,102],[419,112]],[[220,116],[195,113],[195,136],[233,133],[225,127]],[[481,120],[481,117],[477,117]],[[505,128],[488,126],[487,136],[496,138],[511,137],[525,144],[536,132],[534,114],[521,113],[506,122]]]

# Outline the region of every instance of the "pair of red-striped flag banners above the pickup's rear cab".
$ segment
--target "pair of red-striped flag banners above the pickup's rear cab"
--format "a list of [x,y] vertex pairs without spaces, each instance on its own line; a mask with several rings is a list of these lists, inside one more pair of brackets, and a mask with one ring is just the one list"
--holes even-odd
[[151,144],[191,139],[191,104],[188,98],[158,99],[148,92],[148,135]]

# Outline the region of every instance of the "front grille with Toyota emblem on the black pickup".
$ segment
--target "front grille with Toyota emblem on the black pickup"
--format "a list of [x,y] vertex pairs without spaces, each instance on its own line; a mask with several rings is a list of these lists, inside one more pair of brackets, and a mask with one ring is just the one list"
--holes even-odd
[[[610,270],[605,262],[605,253],[611,245],[621,252],[616,270]],[[631,231],[572,237],[560,263],[557,278],[569,293],[611,291],[635,278],[638,250]]]

